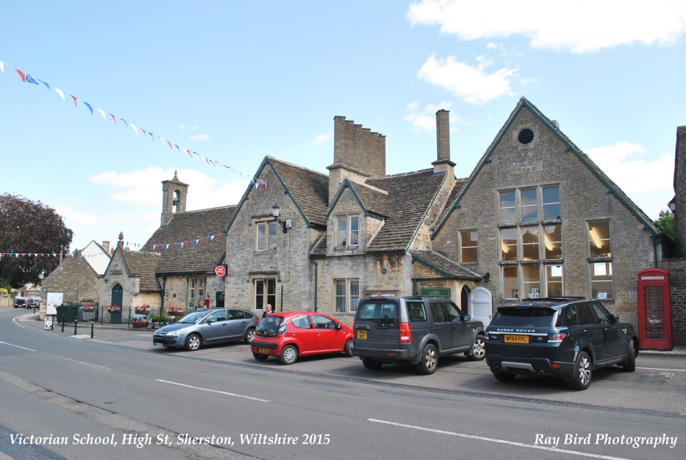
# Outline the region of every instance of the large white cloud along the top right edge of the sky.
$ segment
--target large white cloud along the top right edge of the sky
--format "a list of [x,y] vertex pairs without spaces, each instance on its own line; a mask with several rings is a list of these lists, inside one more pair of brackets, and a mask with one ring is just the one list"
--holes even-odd
[[410,4],[412,25],[440,25],[461,40],[522,35],[534,48],[573,53],[641,43],[673,45],[686,32],[686,3],[654,0],[423,0]]

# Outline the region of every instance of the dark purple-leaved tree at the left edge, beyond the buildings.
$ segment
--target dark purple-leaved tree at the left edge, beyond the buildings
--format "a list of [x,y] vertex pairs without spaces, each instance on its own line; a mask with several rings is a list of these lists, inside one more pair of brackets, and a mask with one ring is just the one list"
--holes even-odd
[[54,208],[10,193],[0,195],[0,216],[0,284],[39,284],[60,263],[40,254],[69,252],[73,232]]

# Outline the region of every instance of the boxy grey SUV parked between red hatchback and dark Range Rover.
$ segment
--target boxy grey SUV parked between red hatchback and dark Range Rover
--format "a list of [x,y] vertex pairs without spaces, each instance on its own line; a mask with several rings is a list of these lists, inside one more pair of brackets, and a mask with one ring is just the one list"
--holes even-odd
[[464,353],[472,361],[485,356],[484,324],[462,315],[449,299],[363,299],[353,329],[353,356],[367,369],[404,363],[415,365],[420,374],[433,374],[439,356]]

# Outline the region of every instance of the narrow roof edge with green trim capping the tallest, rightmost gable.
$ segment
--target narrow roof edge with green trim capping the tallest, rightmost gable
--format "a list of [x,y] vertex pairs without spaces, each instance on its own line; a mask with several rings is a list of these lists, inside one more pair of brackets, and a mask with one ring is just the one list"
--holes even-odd
[[632,213],[641,223],[643,223],[643,226],[645,226],[646,230],[650,230],[650,232],[653,234],[653,236],[659,236],[662,234],[661,230],[655,225],[655,223],[646,215],[646,213],[643,213],[643,210],[639,208],[634,202],[631,201],[631,199],[622,191],[622,189],[619,189],[619,186],[615,184],[608,176],[598,167],[598,165],[595,165],[593,160],[587,156],[587,154],[584,154],[584,152],[581,151],[579,147],[574,145],[574,143],[569,140],[565,134],[560,131],[559,128],[556,127],[548,119],[545,117],[541,111],[536,108],[533,104],[530,103],[525,97],[521,97],[519,99],[519,103],[517,103],[517,106],[514,107],[514,110],[512,110],[512,113],[510,114],[510,117],[508,117],[507,121],[503,125],[502,128],[500,128],[500,131],[498,132],[497,136],[493,139],[493,141],[490,143],[488,146],[488,149],[486,149],[486,153],[484,153],[484,156],[477,162],[476,167],[472,171],[471,175],[469,175],[469,178],[466,180],[466,184],[464,184],[464,187],[462,187],[462,190],[458,194],[458,197],[455,199],[453,203],[449,206],[449,209],[445,215],[442,216],[440,219],[438,225],[436,226],[436,230],[434,232],[434,237],[436,233],[442,228],[442,226],[445,224],[445,221],[450,217],[450,214],[454,209],[460,208],[460,199],[464,196],[467,190],[469,190],[469,186],[474,182],[475,178],[477,175],[479,175],[479,172],[481,169],[486,165],[486,163],[490,162],[490,155],[493,154],[495,151],[495,147],[500,143],[501,139],[503,136],[506,134],[506,132],[510,129],[510,126],[512,123],[514,123],[514,120],[517,119],[517,115],[519,115],[519,112],[523,108],[528,108],[534,114],[534,117],[539,119],[543,125],[546,126],[549,130],[555,134],[560,141],[562,141],[565,145],[567,145],[567,149],[565,149],[565,152],[571,152],[572,154],[576,155],[576,157],[586,166],[589,168],[591,173],[595,175],[600,182],[602,182],[605,186],[608,188],[608,194],[612,193],[619,199],[619,202],[622,202],[624,206],[629,210],[630,213]]

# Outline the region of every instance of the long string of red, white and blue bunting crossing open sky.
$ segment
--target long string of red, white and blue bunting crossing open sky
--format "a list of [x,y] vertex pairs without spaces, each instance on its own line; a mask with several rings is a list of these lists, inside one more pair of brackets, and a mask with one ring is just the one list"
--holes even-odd
[[[0,73],[5,73],[5,64],[7,64],[7,63],[0,61]],[[69,98],[71,98],[74,101],[74,107],[75,108],[78,108],[79,102],[82,102],[82,105],[84,107],[86,107],[89,112],[91,112],[91,115],[94,115],[95,112],[98,112],[102,116],[102,119],[104,121],[107,121],[108,115],[109,115],[109,118],[112,119],[112,121],[113,121],[113,123],[115,123],[115,125],[119,125],[119,123],[117,123],[117,119],[119,119],[119,121],[123,122],[123,125],[127,130],[128,130],[128,128],[131,128],[131,130],[134,133],[136,133],[136,135],[139,134],[139,130],[140,130],[141,133],[143,133],[143,137],[147,138],[147,136],[150,136],[153,143],[155,143],[155,138],[158,138],[161,141],[161,145],[168,145],[169,149],[171,149],[172,151],[174,150],[174,147],[176,147],[176,150],[179,153],[188,154],[188,156],[191,159],[193,159],[193,158],[195,158],[195,156],[197,156],[198,158],[204,160],[207,163],[207,165],[211,165],[214,167],[221,166],[221,167],[224,167],[226,169],[230,169],[234,173],[239,174],[241,176],[241,178],[248,178],[250,180],[250,183],[248,184],[248,189],[252,189],[253,186],[255,186],[256,189],[259,189],[260,186],[262,186],[264,189],[267,188],[267,181],[265,181],[265,180],[261,180],[259,178],[254,178],[250,174],[246,174],[246,173],[242,173],[241,171],[237,171],[233,167],[224,165],[217,160],[211,160],[210,158],[206,158],[205,156],[198,154],[198,152],[191,151],[190,149],[187,149],[186,147],[183,147],[183,146],[179,146],[178,143],[174,143],[172,141],[169,141],[169,139],[165,139],[158,134],[152,134],[152,132],[150,132],[148,130],[144,130],[143,128],[137,127],[133,123],[130,123],[129,121],[126,121],[123,118],[119,118],[115,114],[112,114],[106,110],[103,110],[102,108],[95,106],[95,111],[94,111],[93,110],[94,106],[92,104],[89,104],[88,102],[84,101],[83,99],[80,99],[80,98],[78,98],[74,95],[71,95],[69,93],[64,93],[64,90],[61,90],[60,88],[57,88],[56,86],[51,86],[51,84],[44,82],[43,80],[39,80],[36,77],[32,77],[32,75],[30,75],[29,73],[25,73],[24,71],[21,71],[14,66],[10,66],[10,64],[7,64],[7,66],[14,69],[16,71],[16,73],[19,75],[19,77],[21,78],[21,81],[24,83],[35,84],[36,86],[41,86],[41,84],[43,84],[43,86],[45,86],[45,88],[47,88],[48,91],[52,92],[54,90],[55,93],[57,93],[57,95],[62,99],[62,101],[65,101],[65,102],[67,101],[67,98],[64,97],[64,95],[66,94],[67,96],[69,96]]]

